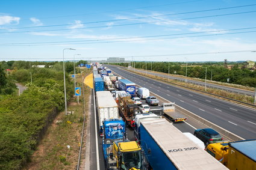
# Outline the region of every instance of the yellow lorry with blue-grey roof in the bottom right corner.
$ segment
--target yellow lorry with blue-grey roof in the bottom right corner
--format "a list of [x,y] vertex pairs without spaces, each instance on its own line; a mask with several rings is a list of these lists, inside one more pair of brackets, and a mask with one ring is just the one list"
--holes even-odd
[[256,139],[209,144],[206,151],[228,169],[256,169]]

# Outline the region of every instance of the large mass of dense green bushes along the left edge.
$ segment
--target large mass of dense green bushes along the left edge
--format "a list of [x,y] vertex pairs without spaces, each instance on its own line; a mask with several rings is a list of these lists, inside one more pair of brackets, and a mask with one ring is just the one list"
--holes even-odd
[[[30,71],[33,83],[28,83],[27,90],[20,96],[0,96],[0,169],[22,168],[36,148],[34,136],[45,126],[52,109],[64,108],[63,73],[51,68]],[[12,76],[27,83],[30,71],[16,70]],[[73,83],[68,76],[66,87],[69,100],[73,95]],[[8,93],[10,88],[4,91]]]

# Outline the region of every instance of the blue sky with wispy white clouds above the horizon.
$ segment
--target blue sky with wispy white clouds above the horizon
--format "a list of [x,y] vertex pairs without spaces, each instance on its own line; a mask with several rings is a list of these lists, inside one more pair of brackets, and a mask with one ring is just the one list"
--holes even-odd
[[[2,1],[0,61],[61,61],[64,48],[76,49],[65,50],[65,59],[79,53],[76,59],[256,61],[256,53],[251,52],[256,50],[255,4],[239,0]],[[240,7],[244,5],[248,6]]]

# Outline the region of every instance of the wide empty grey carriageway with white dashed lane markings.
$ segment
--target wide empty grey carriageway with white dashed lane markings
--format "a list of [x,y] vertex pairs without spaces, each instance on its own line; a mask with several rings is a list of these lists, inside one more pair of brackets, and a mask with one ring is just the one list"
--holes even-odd
[[107,65],[107,67],[125,77],[125,79],[148,88],[149,91],[158,96],[175,102],[176,105],[229,130],[229,132],[245,139],[256,139],[255,109],[174,87],[167,83],[131,73],[114,65]]

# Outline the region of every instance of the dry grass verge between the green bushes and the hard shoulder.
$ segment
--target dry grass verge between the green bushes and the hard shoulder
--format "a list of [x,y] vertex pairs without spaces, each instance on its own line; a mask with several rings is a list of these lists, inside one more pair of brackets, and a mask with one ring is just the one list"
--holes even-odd
[[[84,74],[89,72],[90,70],[85,70]],[[77,82],[80,82],[77,86],[81,87],[82,76],[77,77]],[[90,88],[86,85],[84,85],[84,87],[86,99],[85,112],[87,120],[88,103],[90,102]],[[76,99],[76,97],[73,97],[67,106],[67,110],[73,111],[73,114],[65,115],[64,112],[60,112],[60,114],[58,114],[51,126],[49,126],[44,139],[40,141],[37,150],[31,157],[31,163],[29,163],[24,169],[76,168],[81,145],[80,140],[84,114],[83,96],[80,96],[80,104],[77,103]],[[81,157],[84,157],[83,153],[85,153],[84,145]]]

